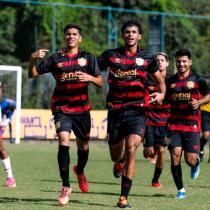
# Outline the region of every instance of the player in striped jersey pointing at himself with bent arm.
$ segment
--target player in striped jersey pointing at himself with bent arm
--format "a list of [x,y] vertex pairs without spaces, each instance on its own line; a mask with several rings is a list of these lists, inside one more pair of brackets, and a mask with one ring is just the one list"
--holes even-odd
[[[98,87],[103,85],[96,58],[79,49],[82,41],[81,32],[82,29],[78,25],[66,25],[64,27],[66,53],[55,53],[44,58],[48,50],[40,49],[31,54],[28,66],[30,78],[50,72],[56,80],[51,110],[59,138],[57,158],[62,179],[61,195],[58,198],[60,205],[68,203],[72,191],[69,180],[69,138],[72,130],[78,147],[77,165],[73,167],[73,171],[81,191],[88,192],[88,182],[84,174],[91,128],[88,84],[93,83]],[[35,64],[37,59],[42,59],[38,65]]]

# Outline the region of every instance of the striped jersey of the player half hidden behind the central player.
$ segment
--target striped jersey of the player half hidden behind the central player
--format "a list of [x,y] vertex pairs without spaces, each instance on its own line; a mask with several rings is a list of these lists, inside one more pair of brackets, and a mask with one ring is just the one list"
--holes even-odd
[[[148,75],[146,80],[146,88],[149,94],[158,92],[156,81]],[[166,126],[170,115],[170,104],[164,99],[162,104],[151,103],[147,107],[147,125],[149,126]]]

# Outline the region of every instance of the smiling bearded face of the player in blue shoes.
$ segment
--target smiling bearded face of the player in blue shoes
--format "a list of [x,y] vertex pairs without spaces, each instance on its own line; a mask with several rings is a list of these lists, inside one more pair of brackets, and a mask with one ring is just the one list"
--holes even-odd
[[188,56],[178,56],[175,58],[176,68],[180,74],[185,74],[190,71],[192,60]]

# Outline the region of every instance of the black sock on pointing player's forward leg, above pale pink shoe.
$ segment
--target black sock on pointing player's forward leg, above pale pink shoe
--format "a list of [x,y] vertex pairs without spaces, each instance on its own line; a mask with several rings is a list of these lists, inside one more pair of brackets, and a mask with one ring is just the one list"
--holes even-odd
[[59,166],[60,176],[63,182],[63,186],[65,187],[70,186],[69,164],[70,164],[69,146],[59,145],[58,166]]

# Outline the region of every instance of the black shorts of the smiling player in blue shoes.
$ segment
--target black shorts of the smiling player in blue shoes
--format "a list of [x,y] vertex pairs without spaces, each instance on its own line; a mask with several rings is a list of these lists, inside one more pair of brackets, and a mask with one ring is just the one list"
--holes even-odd
[[185,152],[197,153],[200,150],[200,133],[168,131],[168,149],[182,147]]

